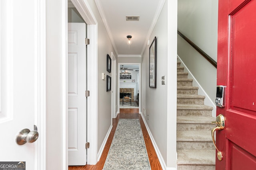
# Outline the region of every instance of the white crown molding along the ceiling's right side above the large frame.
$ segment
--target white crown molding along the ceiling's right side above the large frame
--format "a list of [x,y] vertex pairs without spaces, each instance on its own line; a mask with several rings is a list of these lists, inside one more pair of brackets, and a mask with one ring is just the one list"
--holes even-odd
[[[145,43],[144,43],[144,45],[143,45],[143,47],[142,47],[142,51],[141,51],[141,54],[140,54],[141,56],[143,56],[143,53],[144,53],[144,51],[145,51],[145,49],[146,49],[146,47],[147,47],[147,45],[148,45],[148,40],[150,40],[150,35],[152,34],[152,32],[153,32],[153,30],[154,30],[154,27],[155,27],[155,25],[156,25],[156,22],[157,22],[157,20],[158,20],[158,17],[160,16],[161,11],[162,11],[162,8],[164,7],[164,3],[165,3],[165,0],[160,0],[159,3],[158,3],[158,7],[157,7],[157,9],[156,9],[155,16],[154,16],[154,18],[153,18],[153,21],[152,21],[152,23],[151,23],[150,29],[149,29],[149,31],[148,31],[148,35],[147,35],[147,37],[146,37]],[[150,44],[150,43],[149,43],[149,44]]]

